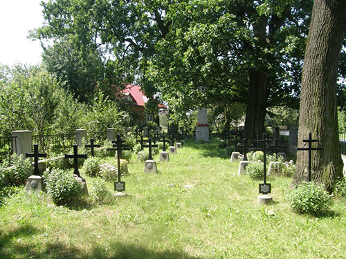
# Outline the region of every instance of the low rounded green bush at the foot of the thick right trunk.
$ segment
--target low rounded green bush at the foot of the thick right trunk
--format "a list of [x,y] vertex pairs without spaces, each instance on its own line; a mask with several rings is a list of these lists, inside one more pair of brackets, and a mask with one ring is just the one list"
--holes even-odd
[[288,196],[293,211],[319,215],[331,205],[331,198],[324,186],[315,182],[302,182]]

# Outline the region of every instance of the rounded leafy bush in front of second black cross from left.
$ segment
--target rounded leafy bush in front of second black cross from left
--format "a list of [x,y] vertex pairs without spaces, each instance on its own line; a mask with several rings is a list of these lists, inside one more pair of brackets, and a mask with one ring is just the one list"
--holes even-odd
[[82,198],[84,182],[71,171],[61,169],[46,170],[44,172],[46,191],[51,195],[53,202],[60,205],[71,205],[75,200]]

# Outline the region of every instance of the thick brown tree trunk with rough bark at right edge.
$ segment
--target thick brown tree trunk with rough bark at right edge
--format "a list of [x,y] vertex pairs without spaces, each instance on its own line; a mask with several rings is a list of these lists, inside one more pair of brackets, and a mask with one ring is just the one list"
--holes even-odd
[[[312,133],[323,151],[313,151],[311,180],[331,191],[343,177],[338,139],[336,77],[346,29],[346,0],[316,0],[305,50],[300,96],[298,146]],[[298,151],[293,184],[307,181],[308,152]]]

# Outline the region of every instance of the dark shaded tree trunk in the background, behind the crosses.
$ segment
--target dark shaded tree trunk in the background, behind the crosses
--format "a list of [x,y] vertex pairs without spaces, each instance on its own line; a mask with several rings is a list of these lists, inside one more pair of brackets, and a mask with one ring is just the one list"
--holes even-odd
[[246,108],[244,137],[262,137],[266,117],[268,77],[261,71],[249,71],[248,106]]

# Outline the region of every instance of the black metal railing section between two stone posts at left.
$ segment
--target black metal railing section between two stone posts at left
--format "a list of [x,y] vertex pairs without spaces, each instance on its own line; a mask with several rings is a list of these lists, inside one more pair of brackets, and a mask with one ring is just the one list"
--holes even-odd
[[76,144],[78,135],[57,134],[57,135],[33,135],[33,144],[39,145],[41,153],[66,153],[73,144]]

